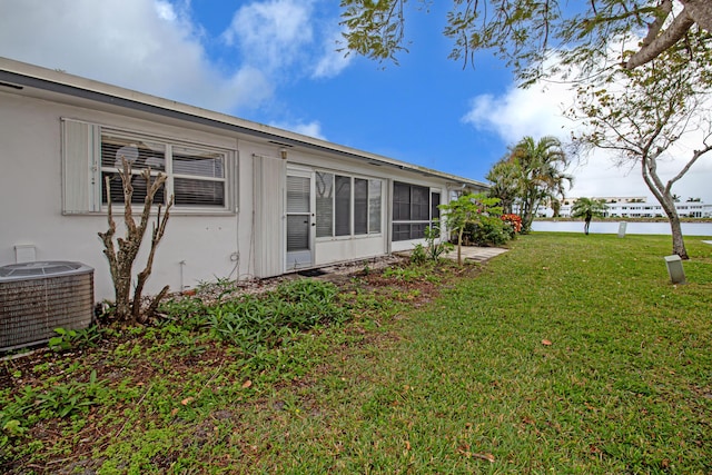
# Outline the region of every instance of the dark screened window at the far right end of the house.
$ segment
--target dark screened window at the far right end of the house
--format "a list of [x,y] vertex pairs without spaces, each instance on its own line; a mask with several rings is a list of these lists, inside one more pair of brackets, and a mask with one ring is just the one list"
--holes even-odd
[[422,239],[433,219],[439,219],[441,194],[428,187],[393,184],[393,240]]

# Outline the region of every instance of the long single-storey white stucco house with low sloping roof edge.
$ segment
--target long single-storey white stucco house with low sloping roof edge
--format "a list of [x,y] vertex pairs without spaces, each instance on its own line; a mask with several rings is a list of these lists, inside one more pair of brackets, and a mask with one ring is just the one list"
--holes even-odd
[[[175,196],[149,293],[411,249],[454,190],[487,188],[0,58],[0,266],[83,263],[95,268],[95,297],[112,298],[97,232],[107,228],[105,178],[117,184],[121,157],[135,174],[150,167],[167,175],[159,200]],[[140,181],[137,175],[134,200],[142,204]],[[120,224],[120,185],[110,195]]]

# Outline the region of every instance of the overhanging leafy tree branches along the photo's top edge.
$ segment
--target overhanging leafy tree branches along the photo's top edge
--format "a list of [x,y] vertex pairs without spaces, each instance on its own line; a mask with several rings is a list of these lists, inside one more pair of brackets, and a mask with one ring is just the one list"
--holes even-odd
[[[406,51],[408,0],[342,0],[346,49],[397,62]],[[428,0],[418,0],[427,8]],[[693,55],[712,46],[709,0],[453,0],[444,34],[454,41],[451,58],[467,62],[491,50],[525,85],[543,76],[587,77],[615,61],[634,69],[669,49]],[[641,38],[643,39],[641,41]],[[706,49],[706,48],[705,48]],[[552,52],[557,61],[548,61]]]

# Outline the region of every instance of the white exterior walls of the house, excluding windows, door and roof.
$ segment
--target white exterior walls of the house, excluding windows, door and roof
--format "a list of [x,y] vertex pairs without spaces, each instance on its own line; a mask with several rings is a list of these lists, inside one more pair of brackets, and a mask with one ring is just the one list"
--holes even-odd
[[[299,169],[380,180],[380,231],[362,236],[313,239],[313,267],[409,250],[418,240],[392,241],[393,184],[402,181],[449,198],[449,177],[404,169],[330,147],[296,147],[281,156],[279,144],[204,122],[184,121],[140,108],[66,96],[59,92],[0,90],[0,266],[21,259],[80,261],[95,268],[95,297],[112,299],[113,287],[103,245],[106,206],[69,212],[67,148],[63,122],[97,125],[127,132],[227,150],[230,196],[225,209],[171,210],[166,235],[155,256],[147,294],[165,285],[184,290],[216,278],[264,278],[284,274],[286,264],[286,176]],[[352,155],[349,155],[352,154]],[[90,175],[90,174],[89,174]],[[432,175],[432,174],[431,174]],[[68,185],[69,184],[69,185]],[[71,194],[69,194],[71,195]],[[82,195],[75,194],[81,201]],[[142,206],[134,206],[135,216]],[[123,235],[122,207],[115,208],[117,236]],[[136,260],[142,269],[150,229]]]

